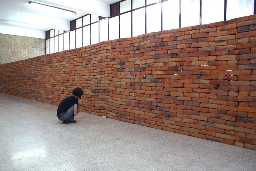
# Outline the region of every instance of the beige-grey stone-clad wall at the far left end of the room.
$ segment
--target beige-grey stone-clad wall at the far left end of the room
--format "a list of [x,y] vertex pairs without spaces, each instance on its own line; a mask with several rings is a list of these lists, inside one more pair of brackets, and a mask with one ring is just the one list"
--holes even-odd
[[0,64],[45,55],[45,39],[0,34]]

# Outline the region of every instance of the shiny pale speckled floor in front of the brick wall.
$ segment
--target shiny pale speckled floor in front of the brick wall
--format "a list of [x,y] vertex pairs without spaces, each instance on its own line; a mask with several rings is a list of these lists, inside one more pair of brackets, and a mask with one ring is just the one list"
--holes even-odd
[[1,171],[255,171],[256,151],[0,93]]

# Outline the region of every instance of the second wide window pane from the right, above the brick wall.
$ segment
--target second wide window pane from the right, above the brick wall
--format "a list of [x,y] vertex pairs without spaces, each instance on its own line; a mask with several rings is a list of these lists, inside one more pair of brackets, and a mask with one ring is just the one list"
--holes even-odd
[[[216,11],[218,11],[216,13]],[[202,0],[202,24],[224,21],[224,1],[223,0]]]

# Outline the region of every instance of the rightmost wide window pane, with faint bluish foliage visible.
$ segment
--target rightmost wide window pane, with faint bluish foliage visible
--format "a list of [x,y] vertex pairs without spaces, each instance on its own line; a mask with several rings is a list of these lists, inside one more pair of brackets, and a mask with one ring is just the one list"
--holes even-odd
[[227,20],[253,15],[254,0],[227,0]]

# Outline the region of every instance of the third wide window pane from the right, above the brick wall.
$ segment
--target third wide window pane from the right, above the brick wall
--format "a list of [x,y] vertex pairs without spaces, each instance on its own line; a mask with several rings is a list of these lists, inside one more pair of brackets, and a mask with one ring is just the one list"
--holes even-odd
[[181,27],[199,25],[199,0],[181,0]]

